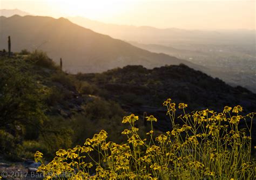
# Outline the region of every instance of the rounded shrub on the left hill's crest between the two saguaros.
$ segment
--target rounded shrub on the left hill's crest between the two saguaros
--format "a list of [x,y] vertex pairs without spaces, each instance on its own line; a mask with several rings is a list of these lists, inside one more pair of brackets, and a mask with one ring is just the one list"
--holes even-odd
[[26,60],[44,68],[57,69],[55,63],[43,51],[33,51]]

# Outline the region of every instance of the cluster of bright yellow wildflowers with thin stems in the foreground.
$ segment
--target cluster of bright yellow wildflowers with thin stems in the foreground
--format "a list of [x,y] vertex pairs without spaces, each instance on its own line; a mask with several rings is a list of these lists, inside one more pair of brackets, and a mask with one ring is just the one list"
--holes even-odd
[[[147,117],[151,131],[139,135],[138,116],[124,117],[130,124],[122,134],[127,142],[107,142],[107,132],[100,131],[84,146],[59,149],[48,164],[42,162],[38,171],[46,179],[253,179],[255,163],[251,157],[252,121],[255,113],[241,116],[240,105],[224,108],[221,113],[208,109],[186,113],[171,99],[164,103],[170,116],[172,131],[153,131],[153,116]],[[183,111],[179,117],[177,110]],[[244,121],[247,128],[239,129]],[[143,138],[142,138],[143,136]],[[147,137],[147,138],[144,138]],[[254,147],[255,148],[255,147]],[[68,176],[66,176],[68,175]]]

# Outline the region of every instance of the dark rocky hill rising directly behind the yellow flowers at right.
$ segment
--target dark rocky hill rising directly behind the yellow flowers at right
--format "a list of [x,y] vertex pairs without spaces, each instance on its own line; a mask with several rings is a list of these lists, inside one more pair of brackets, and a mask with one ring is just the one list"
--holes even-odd
[[[126,66],[102,74],[78,74],[79,80],[95,84],[100,96],[118,102],[124,110],[154,114],[160,120],[157,128],[169,129],[162,103],[172,98],[176,104],[188,104],[188,110],[211,109],[222,112],[224,106],[241,105],[247,112],[256,112],[256,95],[247,89],[233,88],[218,78],[180,64],[146,69]],[[178,112],[180,113],[180,112]]]

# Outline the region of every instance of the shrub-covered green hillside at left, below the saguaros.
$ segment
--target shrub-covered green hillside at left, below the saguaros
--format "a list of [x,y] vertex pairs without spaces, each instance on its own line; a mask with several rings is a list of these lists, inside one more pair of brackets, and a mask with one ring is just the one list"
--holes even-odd
[[2,155],[24,160],[41,150],[51,157],[58,148],[79,144],[103,126],[118,131],[124,111],[117,103],[80,94],[83,82],[62,72],[45,53],[23,53],[0,56]]

